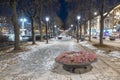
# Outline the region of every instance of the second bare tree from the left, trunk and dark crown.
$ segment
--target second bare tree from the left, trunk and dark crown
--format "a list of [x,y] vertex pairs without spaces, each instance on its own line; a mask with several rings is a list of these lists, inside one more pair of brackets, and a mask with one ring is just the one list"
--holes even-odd
[[32,44],[36,43],[36,37],[35,37],[35,20],[37,16],[37,6],[38,6],[38,0],[21,0],[22,3],[22,10],[27,15],[27,17],[31,20],[31,30],[32,30]]

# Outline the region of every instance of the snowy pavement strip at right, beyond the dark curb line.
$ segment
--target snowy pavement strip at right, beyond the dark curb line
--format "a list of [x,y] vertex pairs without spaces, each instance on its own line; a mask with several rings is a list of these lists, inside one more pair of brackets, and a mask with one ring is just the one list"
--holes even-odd
[[104,50],[92,46],[92,44],[87,41],[80,42],[80,45],[95,52],[102,61],[120,73],[120,51],[112,51],[108,54]]

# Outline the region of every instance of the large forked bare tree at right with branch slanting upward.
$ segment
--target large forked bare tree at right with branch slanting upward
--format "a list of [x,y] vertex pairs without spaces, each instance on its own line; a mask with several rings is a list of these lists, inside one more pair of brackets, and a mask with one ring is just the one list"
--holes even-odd
[[99,13],[100,13],[100,41],[99,41],[100,45],[103,45],[104,20],[107,17],[107,15],[110,13],[110,11],[119,3],[120,3],[119,0],[114,0],[114,1],[101,0],[100,1],[100,7],[98,7]]

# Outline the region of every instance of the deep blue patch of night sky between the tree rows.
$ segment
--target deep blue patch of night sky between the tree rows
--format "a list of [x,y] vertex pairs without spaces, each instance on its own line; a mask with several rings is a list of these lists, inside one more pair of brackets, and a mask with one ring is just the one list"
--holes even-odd
[[58,16],[62,19],[62,21],[65,23],[68,12],[67,12],[67,3],[65,0],[59,0],[61,6],[60,6],[60,11],[58,13]]

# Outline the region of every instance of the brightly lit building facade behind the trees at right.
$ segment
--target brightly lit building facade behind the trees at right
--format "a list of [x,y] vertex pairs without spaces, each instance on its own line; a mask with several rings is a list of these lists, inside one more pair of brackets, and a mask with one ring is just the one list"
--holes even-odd
[[[105,13],[106,14],[106,13]],[[87,34],[89,34],[90,21],[87,22]],[[114,7],[104,20],[104,35],[112,35],[113,32],[120,31],[120,4]],[[100,16],[96,16],[91,20],[91,35],[100,33]]]

